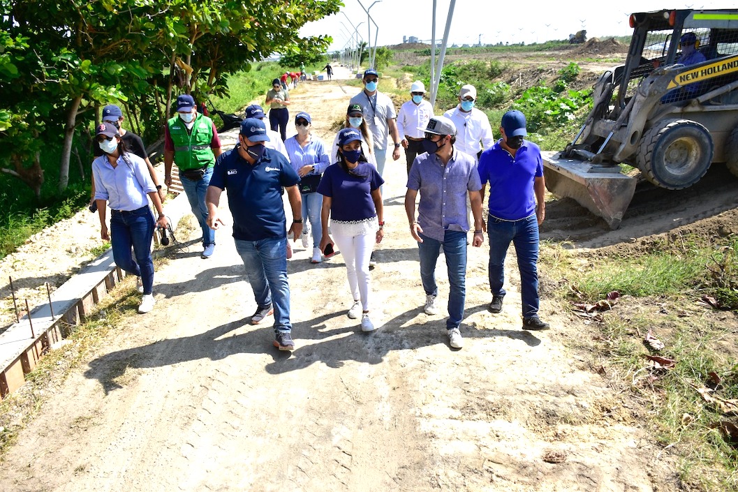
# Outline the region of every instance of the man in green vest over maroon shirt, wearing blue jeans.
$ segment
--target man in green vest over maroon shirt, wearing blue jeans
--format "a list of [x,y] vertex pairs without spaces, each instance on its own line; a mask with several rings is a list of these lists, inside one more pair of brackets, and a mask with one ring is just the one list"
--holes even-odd
[[190,94],[177,97],[177,115],[168,120],[164,134],[164,181],[171,185],[172,164],[177,164],[187,201],[202,228],[203,258],[215,251],[215,231],[207,226],[205,192],[219,155],[221,140],[213,120],[197,112]]

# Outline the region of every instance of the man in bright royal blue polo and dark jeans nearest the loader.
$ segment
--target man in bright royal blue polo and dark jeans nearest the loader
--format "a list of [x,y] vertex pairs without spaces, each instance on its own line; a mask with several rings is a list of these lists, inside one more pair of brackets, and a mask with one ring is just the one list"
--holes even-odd
[[545,181],[541,150],[524,140],[525,116],[508,111],[500,125],[502,138],[479,159],[482,198],[489,182],[489,311],[499,313],[505,297],[505,256],[510,242],[515,246],[520,269],[523,328],[545,330],[548,323],[538,317],[538,226],[545,218]]

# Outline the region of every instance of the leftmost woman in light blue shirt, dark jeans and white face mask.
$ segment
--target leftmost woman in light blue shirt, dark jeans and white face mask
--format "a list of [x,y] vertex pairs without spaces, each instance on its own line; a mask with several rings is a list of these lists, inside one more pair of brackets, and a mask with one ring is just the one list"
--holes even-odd
[[[97,126],[95,133],[103,155],[92,162],[97,213],[100,215],[100,237],[110,240],[115,264],[128,274],[136,275],[142,283],[143,297],[139,313],[154,308],[154,260],[151,259],[151,240],[154,226],[167,227],[162,201],[146,162],[128,153],[120,139],[117,127],[109,122]],[[148,207],[148,195],[159,212],[154,216]],[[110,206],[110,232],[106,225],[106,204]],[[112,236],[112,238],[111,238]],[[131,256],[133,247],[136,260]]]

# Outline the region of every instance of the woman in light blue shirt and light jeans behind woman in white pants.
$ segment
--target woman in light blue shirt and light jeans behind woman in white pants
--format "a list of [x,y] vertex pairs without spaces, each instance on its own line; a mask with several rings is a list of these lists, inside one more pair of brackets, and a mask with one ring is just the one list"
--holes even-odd
[[297,187],[303,198],[303,246],[308,247],[308,235],[312,231],[313,257],[311,263],[320,263],[323,260],[323,253],[320,251],[320,240],[323,238],[323,229],[320,226],[323,195],[316,191],[323,171],[331,163],[328,161],[328,151],[325,150],[323,142],[317,136],[310,134],[311,125],[309,114],[297,113],[294,117],[294,128],[297,129],[297,135],[286,139],[284,145],[289,153],[292,167],[300,175]]

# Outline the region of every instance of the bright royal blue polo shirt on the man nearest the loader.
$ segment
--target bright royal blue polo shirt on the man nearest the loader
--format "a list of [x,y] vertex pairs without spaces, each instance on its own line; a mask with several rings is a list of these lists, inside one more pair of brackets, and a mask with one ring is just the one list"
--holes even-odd
[[538,145],[523,140],[515,157],[502,148],[501,140],[479,158],[479,178],[489,181],[489,215],[519,221],[536,212],[533,184],[543,176],[543,159]]

